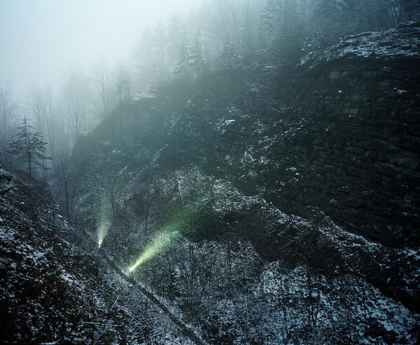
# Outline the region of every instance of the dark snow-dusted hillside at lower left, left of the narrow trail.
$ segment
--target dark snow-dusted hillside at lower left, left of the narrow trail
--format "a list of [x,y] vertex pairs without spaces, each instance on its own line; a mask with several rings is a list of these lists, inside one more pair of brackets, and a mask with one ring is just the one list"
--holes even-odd
[[45,185],[0,169],[1,343],[188,344],[92,243],[57,214]]

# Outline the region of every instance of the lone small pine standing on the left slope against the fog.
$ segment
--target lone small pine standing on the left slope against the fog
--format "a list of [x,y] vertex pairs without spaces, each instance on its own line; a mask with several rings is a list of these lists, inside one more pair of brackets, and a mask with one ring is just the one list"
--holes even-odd
[[18,156],[28,165],[29,175],[32,175],[32,166],[37,165],[43,170],[48,170],[45,161],[51,158],[47,156],[47,143],[43,141],[41,133],[32,133],[32,126],[28,124],[27,118],[23,119],[22,126],[18,127],[18,140],[10,142],[10,153]]

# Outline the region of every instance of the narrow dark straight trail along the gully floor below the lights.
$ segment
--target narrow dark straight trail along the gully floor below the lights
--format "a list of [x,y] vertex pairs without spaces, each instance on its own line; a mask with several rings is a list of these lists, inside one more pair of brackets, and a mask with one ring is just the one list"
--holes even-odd
[[111,267],[111,269],[113,269],[113,271],[115,271],[118,274],[118,276],[120,276],[125,281],[127,281],[127,283],[130,283],[131,285],[133,285],[134,288],[136,288],[137,290],[139,290],[148,299],[150,299],[151,302],[153,302],[153,304],[155,304],[156,306],[158,306],[158,308],[161,309],[163,311],[163,313],[165,313],[172,320],[172,322],[176,326],[179,327],[179,329],[181,330],[181,333],[185,337],[188,337],[188,339],[190,339],[191,341],[193,341],[193,343],[198,344],[198,345],[205,345],[205,344],[207,344],[206,341],[204,341],[203,339],[201,339],[197,335],[197,333],[195,332],[195,330],[194,330],[194,328],[192,326],[187,325],[186,323],[184,323],[183,320],[181,320],[172,311],[170,311],[169,308],[158,299],[158,297],[156,297],[155,295],[153,295],[153,293],[151,293],[150,291],[148,291],[143,286],[139,285],[139,283],[137,283],[136,281],[134,281],[134,278],[128,276],[123,271],[121,271],[121,269],[111,259],[109,259],[109,257],[106,255],[106,253],[103,250],[99,250],[99,255],[101,255],[101,257],[106,261],[107,264],[109,264],[109,266]]

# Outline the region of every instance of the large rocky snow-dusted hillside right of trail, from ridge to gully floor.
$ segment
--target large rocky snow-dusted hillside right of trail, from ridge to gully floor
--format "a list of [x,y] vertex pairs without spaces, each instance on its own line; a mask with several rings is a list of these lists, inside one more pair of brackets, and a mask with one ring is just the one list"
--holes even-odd
[[414,343],[419,36],[350,36],[125,104],[73,151],[74,214],[122,265],[176,222],[185,237],[139,276],[206,339]]

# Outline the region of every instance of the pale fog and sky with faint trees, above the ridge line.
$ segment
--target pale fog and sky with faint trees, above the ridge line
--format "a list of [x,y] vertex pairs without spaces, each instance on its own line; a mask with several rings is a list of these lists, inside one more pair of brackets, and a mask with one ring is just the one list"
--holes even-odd
[[[332,3],[0,0],[0,148],[8,152],[26,117],[57,165],[112,111],[169,82],[294,66],[346,35],[420,13],[414,0]],[[13,164],[10,155],[2,160]]]

